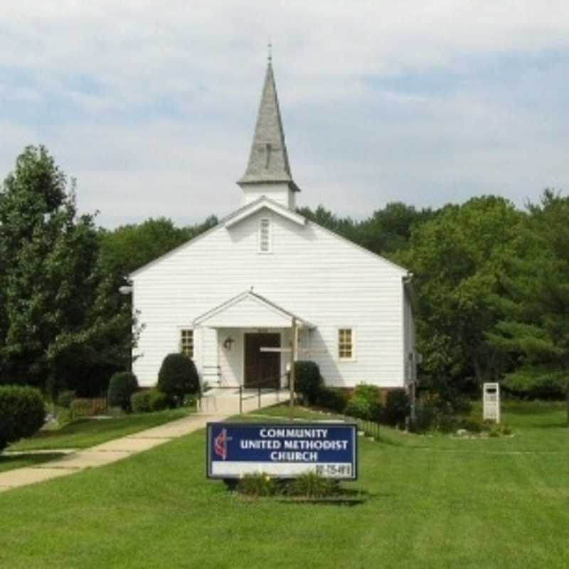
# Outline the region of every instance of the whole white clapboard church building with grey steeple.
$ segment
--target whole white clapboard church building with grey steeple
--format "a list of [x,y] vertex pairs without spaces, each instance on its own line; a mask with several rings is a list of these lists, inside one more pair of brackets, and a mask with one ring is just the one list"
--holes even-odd
[[155,385],[166,354],[182,351],[211,386],[285,386],[296,338],[297,359],[317,362],[326,385],[412,389],[412,275],[297,213],[270,60],[238,185],[241,208],[129,275],[144,324],[139,384]]

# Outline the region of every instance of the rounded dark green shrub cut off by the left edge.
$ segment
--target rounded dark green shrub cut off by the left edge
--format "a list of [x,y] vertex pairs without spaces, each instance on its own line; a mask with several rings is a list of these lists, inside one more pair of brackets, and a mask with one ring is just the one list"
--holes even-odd
[[38,389],[0,386],[0,450],[18,439],[31,437],[45,420],[46,408]]

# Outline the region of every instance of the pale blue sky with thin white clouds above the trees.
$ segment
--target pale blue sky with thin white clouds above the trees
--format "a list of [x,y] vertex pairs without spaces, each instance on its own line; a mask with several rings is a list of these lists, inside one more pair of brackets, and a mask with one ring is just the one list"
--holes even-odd
[[299,206],[569,190],[566,0],[0,0],[0,176],[44,144],[114,228],[240,207],[272,42]]

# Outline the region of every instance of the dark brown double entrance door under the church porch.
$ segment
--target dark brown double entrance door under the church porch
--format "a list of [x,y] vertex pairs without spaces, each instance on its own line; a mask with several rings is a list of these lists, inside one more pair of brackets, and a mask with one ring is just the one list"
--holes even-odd
[[280,348],[280,334],[245,334],[245,388],[278,388],[280,353],[261,348]]

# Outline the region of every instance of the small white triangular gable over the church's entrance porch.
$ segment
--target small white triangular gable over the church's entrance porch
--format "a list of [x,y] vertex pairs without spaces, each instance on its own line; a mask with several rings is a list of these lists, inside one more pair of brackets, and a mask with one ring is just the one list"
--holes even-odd
[[250,289],[204,312],[193,320],[193,325],[206,324],[214,328],[285,327],[292,325],[293,318],[301,327],[314,328],[308,321]]

